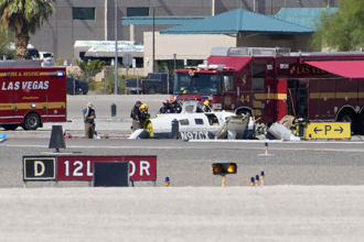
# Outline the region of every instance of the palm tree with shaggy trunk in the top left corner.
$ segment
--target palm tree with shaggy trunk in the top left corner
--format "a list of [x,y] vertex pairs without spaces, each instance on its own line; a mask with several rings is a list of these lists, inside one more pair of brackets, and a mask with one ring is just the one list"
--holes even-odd
[[29,32],[35,33],[47,22],[54,8],[53,0],[0,0],[1,24],[15,32],[17,59],[26,59]]

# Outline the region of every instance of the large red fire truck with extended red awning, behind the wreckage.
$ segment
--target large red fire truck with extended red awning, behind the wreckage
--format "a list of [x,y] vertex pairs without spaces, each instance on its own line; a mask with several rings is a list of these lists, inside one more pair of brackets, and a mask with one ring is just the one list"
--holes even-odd
[[214,47],[204,64],[175,72],[173,94],[210,100],[215,110],[248,112],[259,122],[286,114],[347,121],[364,134],[364,52]]

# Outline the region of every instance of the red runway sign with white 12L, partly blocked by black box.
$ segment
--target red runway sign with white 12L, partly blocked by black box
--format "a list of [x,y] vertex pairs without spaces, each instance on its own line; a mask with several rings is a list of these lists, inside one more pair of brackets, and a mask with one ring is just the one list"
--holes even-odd
[[57,180],[93,180],[94,162],[129,162],[133,180],[157,180],[157,156],[58,156]]

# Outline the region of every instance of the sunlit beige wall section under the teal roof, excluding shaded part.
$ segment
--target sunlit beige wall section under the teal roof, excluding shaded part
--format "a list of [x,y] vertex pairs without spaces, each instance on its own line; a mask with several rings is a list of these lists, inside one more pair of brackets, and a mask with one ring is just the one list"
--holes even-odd
[[[152,72],[152,32],[144,32],[144,75]],[[236,46],[236,36],[223,34],[159,34],[154,33],[154,70],[157,61],[205,59],[215,46]]]

